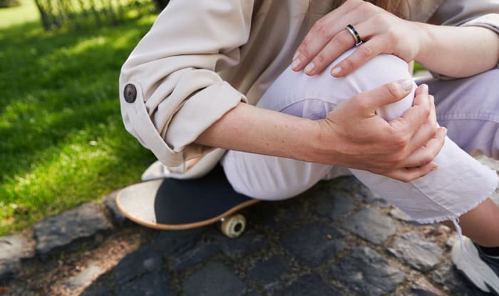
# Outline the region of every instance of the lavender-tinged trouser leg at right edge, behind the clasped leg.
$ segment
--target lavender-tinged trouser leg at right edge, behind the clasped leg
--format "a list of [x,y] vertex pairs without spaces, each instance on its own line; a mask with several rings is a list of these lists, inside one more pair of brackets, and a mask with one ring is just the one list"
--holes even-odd
[[426,79],[435,96],[438,123],[467,152],[499,159],[499,68],[451,81]]

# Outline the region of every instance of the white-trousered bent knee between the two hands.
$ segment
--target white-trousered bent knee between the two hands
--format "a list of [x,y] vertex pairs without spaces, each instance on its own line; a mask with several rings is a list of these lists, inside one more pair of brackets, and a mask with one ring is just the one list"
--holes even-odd
[[[257,106],[294,116],[319,119],[324,118],[338,103],[359,93],[392,81],[411,79],[408,64],[389,54],[372,58],[346,77],[331,76],[331,68],[353,51],[354,49],[346,51],[324,71],[314,76],[287,68],[267,89]],[[413,96],[408,96],[407,100],[410,104],[404,106],[411,105]]]

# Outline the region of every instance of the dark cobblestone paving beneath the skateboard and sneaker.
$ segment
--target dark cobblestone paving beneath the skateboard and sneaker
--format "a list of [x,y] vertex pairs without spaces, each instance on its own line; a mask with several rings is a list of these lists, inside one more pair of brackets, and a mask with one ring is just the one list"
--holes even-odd
[[[37,225],[38,254],[55,255],[44,261],[29,259],[34,243],[0,238],[0,294],[488,295],[453,267],[451,230],[407,222],[392,207],[344,177],[245,209],[247,231],[237,239],[213,225],[158,231],[119,220],[104,239],[109,213],[81,205]],[[101,244],[81,243],[99,236]],[[76,243],[78,252],[66,252]]]

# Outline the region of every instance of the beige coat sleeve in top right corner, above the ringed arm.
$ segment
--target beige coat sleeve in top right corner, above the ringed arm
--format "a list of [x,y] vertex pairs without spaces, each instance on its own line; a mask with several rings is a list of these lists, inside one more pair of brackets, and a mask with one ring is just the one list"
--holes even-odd
[[[481,26],[499,34],[499,1],[447,0],[432,19],[443,26]],[[436,78],[451,79],[438,73],[432,74]]]

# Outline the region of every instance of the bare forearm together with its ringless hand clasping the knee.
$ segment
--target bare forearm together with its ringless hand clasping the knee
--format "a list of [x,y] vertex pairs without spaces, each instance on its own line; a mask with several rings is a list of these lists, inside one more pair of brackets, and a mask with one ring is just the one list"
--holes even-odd
[[[385,121],[376,110],[411,93],[409,83],[388,83],[340,103],[314,121],[240,103],[195,143],[249,153],[341,165],[408,182],[436,168],[446,136],[436,128],[428,86],[401,118]],[[241,136],[244,135],[244,136]]]

